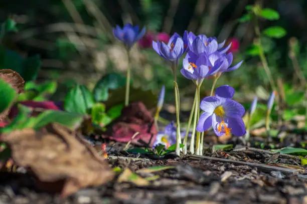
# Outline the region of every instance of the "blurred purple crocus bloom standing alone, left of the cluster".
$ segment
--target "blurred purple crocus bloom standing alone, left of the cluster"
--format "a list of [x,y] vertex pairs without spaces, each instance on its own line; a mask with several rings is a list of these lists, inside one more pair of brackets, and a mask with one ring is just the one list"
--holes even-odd
[[139,30],[138,25],[133,26],[130,23],[125,24],[123,28],[118,25],[116,25],[116,28],[113,28],[114,36],[124,42],[128,49],[145,34],[145,31],[145,27]]

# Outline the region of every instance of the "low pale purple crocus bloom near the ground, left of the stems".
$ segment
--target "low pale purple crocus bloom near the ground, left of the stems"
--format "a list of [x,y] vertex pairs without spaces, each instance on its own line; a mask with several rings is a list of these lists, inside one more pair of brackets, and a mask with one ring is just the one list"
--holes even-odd
[[[172,121],[165,127],[164,131],[158,132],[153,146],[155,147],[159,144],[164,144],[166,148],[168,148],[171,145],[176,144],[176,130],[177,128],[174,126],[174,121]],[[184,136],[185,132],[181,132],[181,137],[183,138]]]

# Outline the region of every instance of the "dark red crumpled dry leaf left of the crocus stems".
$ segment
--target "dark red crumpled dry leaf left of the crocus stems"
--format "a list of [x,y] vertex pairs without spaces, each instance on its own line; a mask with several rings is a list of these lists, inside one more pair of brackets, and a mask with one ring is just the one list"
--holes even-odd
[[106,127],[107,130],[102,132],[102,137],[119,142],[128,142],[136,132],[139,132],[132,143],[139,144],[138,139],[149,143],[152,136],[150,141],[152,145],[158,133],[154,118],[142,102],[133,102],[124,107],[121,115]]

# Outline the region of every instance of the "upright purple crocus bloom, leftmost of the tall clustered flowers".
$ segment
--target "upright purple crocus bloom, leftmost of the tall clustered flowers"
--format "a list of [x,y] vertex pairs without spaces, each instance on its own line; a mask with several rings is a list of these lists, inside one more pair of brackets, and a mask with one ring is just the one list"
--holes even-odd
[[170,38],[168,44],[160,41],[152,41],[152,47],[163,58],[171,61],[178,62],[178,59],[184,54],[186,48],[184,47],[184,41],[182,37],[175,32]]

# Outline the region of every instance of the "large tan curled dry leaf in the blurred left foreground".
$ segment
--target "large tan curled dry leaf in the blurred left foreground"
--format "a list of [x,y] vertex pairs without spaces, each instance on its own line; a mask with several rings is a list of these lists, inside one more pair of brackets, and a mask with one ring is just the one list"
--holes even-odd
[[28,167],[41,182],[61,183],[61,195],[68,196],[81,187],[98,186],[114,176],[107,160],[66,128],[52,124],[52,132],[31,128],[3,135],[17,165]]

